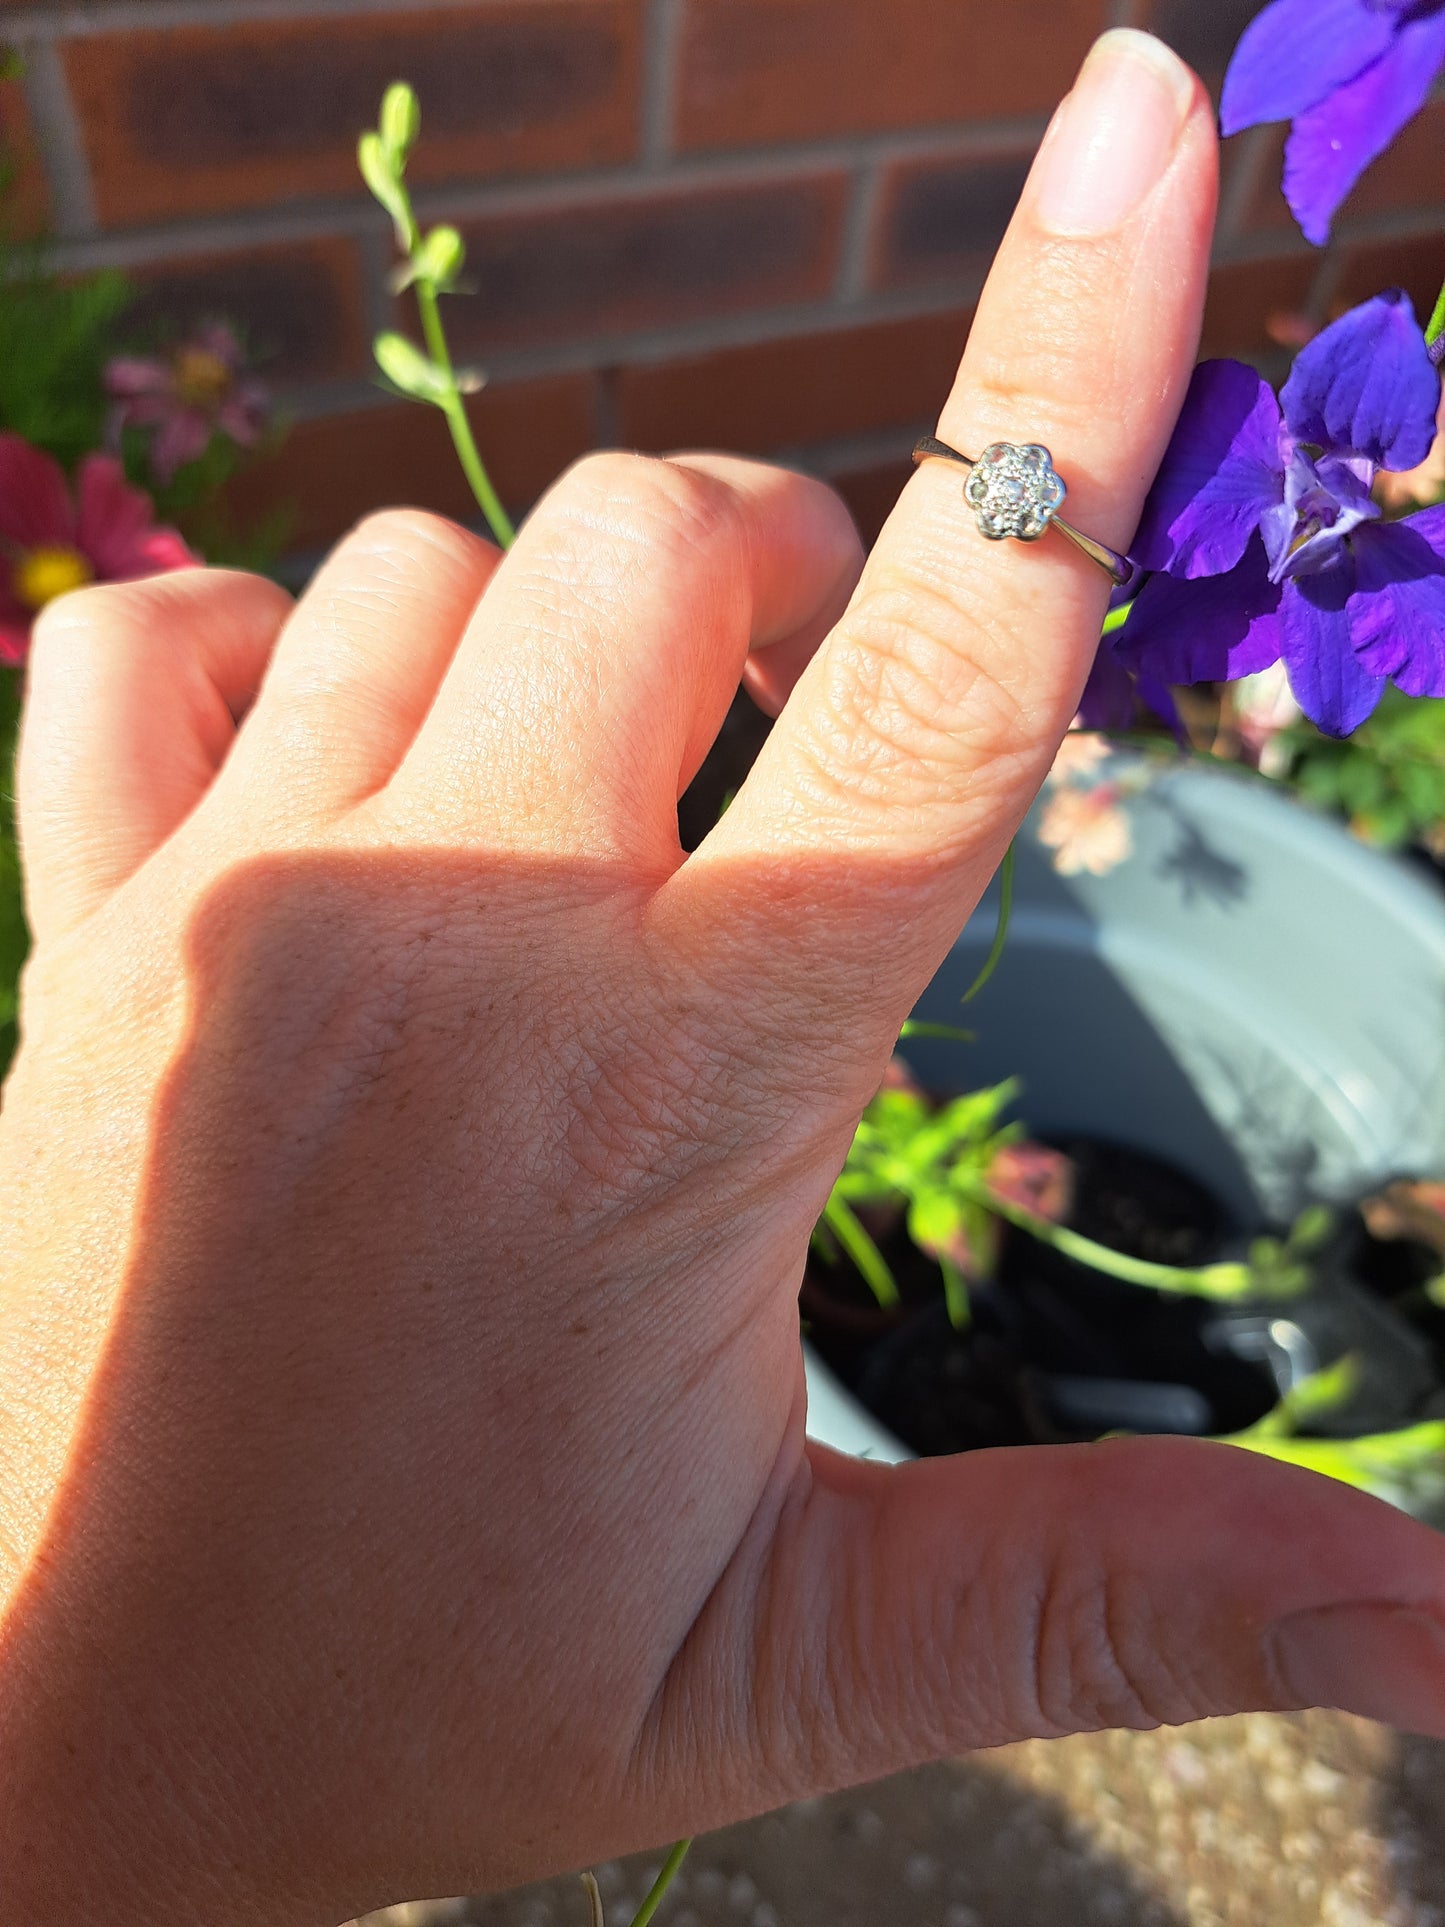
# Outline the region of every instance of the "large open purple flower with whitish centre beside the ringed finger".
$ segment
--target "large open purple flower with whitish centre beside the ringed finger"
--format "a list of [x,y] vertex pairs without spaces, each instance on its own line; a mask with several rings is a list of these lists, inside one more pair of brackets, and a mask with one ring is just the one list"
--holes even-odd
[[1152,574],[1112,642],[1139,676],[1231,682],[1283,659],[1300,709],[1349,736],[1393,678],[1445,696],[1445,509],[1383,522],[1379,468],[1435,439],[1439,374],[1408,295],[1318,335],[1281,395],[1204,362],[1144,505]]

